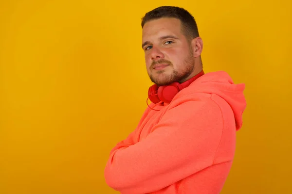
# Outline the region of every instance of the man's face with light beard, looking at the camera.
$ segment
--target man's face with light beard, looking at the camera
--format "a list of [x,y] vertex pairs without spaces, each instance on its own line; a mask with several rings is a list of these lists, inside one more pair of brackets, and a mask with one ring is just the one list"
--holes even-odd
[[148,21],[142,34],[147,73],[152,82],[157,85],[180,82],[192,73],[193,49],[183,34],[179,19]]

